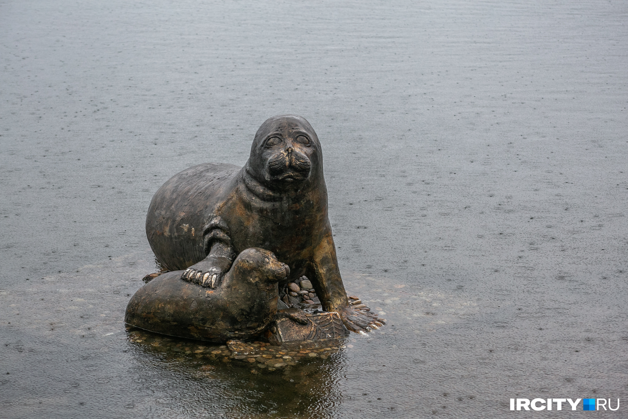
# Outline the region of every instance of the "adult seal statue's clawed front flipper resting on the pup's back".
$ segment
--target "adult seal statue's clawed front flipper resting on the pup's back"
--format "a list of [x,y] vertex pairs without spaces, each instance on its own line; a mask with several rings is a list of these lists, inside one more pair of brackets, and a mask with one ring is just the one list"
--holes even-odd
[[220,217],[212,217],[203,228],[203,245],[207,257],[181,274],[183,281],[216,288],[236,257],[229,237],[229,227]]

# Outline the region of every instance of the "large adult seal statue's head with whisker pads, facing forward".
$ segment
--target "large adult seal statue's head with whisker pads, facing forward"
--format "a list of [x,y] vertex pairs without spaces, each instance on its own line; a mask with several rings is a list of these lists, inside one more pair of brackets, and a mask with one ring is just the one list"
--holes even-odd
[[277,115],[259,127],[246,170],[269,189],[298,189],[322,176],[323,157],[310,123],[298,115]]

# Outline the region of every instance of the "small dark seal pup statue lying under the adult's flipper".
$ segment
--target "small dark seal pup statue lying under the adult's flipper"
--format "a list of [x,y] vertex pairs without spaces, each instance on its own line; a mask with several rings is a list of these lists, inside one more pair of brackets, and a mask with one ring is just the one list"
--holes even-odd
[[278,281],[288,265],[268,250],[242,250],[216,288],[162,274],[133,295],[124,321],[165,335],[226,342],[261,335],[277,313]]

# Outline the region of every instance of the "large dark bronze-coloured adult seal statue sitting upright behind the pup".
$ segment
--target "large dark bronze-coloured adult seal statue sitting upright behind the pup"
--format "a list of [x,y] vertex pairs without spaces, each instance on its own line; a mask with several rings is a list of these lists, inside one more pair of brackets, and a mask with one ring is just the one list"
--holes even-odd
[[217,288],[236,255],[260,247],[290,266],[284,284],[307,276],[323,310],[338,312],[349,330],[382,321],[347,300],[320,142],[301,116],[264,121],[244,167],[204,163],[171,177],[153,196],[146,235],[165,269],[185,269],[185,281]]

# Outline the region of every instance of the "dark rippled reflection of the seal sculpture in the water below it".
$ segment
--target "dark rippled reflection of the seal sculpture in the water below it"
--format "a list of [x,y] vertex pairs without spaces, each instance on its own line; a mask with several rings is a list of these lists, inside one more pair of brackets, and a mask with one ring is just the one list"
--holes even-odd
[[[146,374],[136,379],[146,381],[156,395],[168,393],[164,402],[171,403],[169,410],[175,413],[171,416],[185,416],[183,411],[207,411],[234,419],[327,418],[333,416],[342,398],[340,387],[330,385],[346,373],[342,361],[345,349],[338,347],[338,342],[326,341],[320,348],[300,351],[306,353],[287,352],[273,345],[259,350],[263,344],[257,342],[251,345],[268,357],[258,356],[256,362],[250,362],[248,357],[232,357],[227,345],[166,337],[134,328],[128,336],[129,346],[144,354],[137,357],[137,362],[148,366],[131,373]],[[290,364],[273,362],[285,361],[284,356],[289,357]]]

